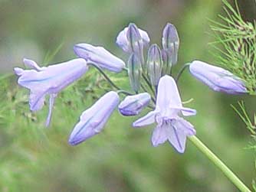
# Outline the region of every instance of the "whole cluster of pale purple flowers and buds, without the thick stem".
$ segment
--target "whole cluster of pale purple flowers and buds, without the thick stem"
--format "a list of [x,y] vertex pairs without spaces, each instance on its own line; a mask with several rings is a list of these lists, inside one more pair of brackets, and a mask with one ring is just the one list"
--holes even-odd
[[[147,107],[153,111],[133,122],[133,127],[138,128],[156,122],[152,135],[153,146],[168,141],[176,151],[183,153],[186,138],[195,135],[193,125],[183,119],[183,116],[194,116],[196,111],[182,106],[176,85],[178,78],[175,80],[172,77],[172,67],[178,62],[179,50],[176,27],[173,24],[166,24],[162,31],[162,47],[149,43],[147,32],[131,23],[117,35],[117,45],[129,56],[126,63],[103,47],[81,43],[74,45],[74,53],[79,57],[77,59],[48,67],[39,67],[33,60],[24,59],[25,66],[30,70],[19,67],[15,67],[14,70],[19,76],[18,84],[30,89],[31,111],[41,109],[44,97],[50,95],[47,126],[51,121],[57,93],[83,76],[89,67],[96,67],[113,88],[117,89],[104,94],[82,113],[71,132],[68,141],[71,145],[77,145],[100,133],[116,108],[123,116],[137,116]],[[104,70],[113,73],[126,71],[132,93],[119,89]],[[247,93],[242,80],[228,70],[198,60],[189,63],[189,70],[193,76],[215,91]],[[120,94],[126,95],[122,102]]]

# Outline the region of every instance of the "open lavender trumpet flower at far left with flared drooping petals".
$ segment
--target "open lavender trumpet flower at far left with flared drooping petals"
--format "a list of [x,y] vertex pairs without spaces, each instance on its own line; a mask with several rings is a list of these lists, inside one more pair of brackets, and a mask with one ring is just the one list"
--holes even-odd
[[88,69],[84,59],[69,60],[48,67],[39,67],[33,60],[24,59],[25,66],[31,70],[15,67],[19,76],[18,84],[30,89],[29,105],[31,111],[37,111],[44,105],[44,97],[49,94],[49,112],[46,126],[51,121],[54,100],[62,89],[79,79]]

